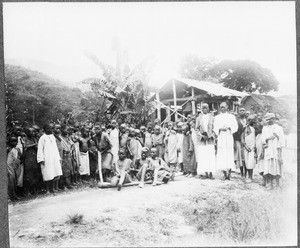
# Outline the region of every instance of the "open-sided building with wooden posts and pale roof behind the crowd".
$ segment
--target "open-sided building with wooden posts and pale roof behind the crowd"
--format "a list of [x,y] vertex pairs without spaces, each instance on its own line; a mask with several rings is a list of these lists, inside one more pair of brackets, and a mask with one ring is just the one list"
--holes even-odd
[[[188,78],[172,78],[168,80],[149,101],[156,101],[157,118],[171,116],[176,112],[184,118],[184,113],[196,114],[198,106],[202,102],[207,102],[211,110],[218,110],[222,101],[227,101],[229,107],[234,107],[234,102],[240,101],[247,96],[245,92],[240,92],[223,87],[208,81],[198,81]],[[165,113],[161,111],[165,110]],[[170,112],[173,112],[172,114]]]

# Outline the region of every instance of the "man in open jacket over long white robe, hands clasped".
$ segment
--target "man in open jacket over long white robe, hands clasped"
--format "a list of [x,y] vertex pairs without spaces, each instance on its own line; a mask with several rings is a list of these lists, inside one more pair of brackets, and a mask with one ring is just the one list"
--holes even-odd
[[[202,115],[196,119],[197,144],[195,145],[198,159],[197,174],[205,173],[204,179],[213,179],[216,171],[214,117],[209,113],[207,103],[202,104]],[[201,159],[200,159],[201,158]]]

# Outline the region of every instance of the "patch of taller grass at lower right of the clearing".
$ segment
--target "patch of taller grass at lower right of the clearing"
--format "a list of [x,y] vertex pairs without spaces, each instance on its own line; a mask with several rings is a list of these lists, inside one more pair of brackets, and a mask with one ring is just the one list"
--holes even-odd
[[253,194],[232,197],[201,193],[179,205],[187,223],[204,235],[237,244],[268,242],[284,237],[282,204],[276,196],[259,199]]

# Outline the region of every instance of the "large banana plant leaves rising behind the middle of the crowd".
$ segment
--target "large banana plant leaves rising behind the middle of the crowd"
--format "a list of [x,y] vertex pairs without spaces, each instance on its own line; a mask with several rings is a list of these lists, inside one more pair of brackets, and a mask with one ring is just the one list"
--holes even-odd
[[[148,111],[151,108],[146,102],[149,95],[149,75],[153,69],[154,63],[152,58],[147,58],[139,63],[134,69],[120,78],[117,71],[101,62],[95,55],[86,53],[96,65],[100,67],[104,79],[90,78],[83,80],[83,83],[90,84],[94,97],[104,98],[104,101],[109,101],[104,108],[102,104],[94,104],[96,119],[101,119],[109,110],[114,118],[122,118],[122,112],[129,111],[138,116],[137,120],[146,122],[143,117],[148,116]],[[109,106],[109,107],[108,107]],[[131,115],[131,117],[133,117]],[[133,118],[135,119],[135,118]]]

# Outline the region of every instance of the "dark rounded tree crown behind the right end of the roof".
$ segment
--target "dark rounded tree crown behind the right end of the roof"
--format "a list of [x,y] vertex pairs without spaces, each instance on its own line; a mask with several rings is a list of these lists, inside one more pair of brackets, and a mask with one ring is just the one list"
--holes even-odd
[[272,71],[251,60],[223,60],[210,73],[230,89],[259,93],[278,90]]

